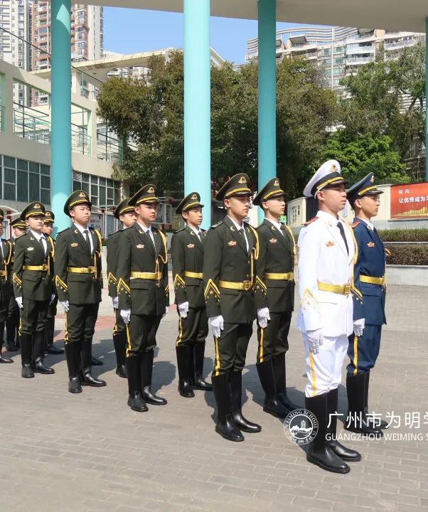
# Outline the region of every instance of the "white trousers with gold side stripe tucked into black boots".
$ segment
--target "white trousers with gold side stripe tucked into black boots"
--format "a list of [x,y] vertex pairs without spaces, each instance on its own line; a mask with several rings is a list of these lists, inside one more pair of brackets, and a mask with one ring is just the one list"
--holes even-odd
[[319,353],[309,351],[308,336],[302,333],[306,356],[306,397],[314,397],[336,389],[341,383],[343,361],[348,351],[348,336],[324,336]]

